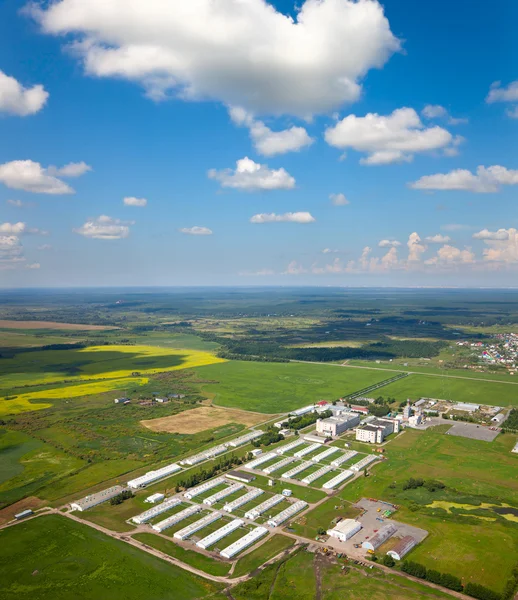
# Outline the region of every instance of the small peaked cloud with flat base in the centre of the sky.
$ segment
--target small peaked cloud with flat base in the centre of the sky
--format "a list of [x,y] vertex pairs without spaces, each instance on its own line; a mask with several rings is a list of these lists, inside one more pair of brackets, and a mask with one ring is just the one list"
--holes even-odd
[[236,169],[217,171],[211,169],[210,179],[219,181],[222,187],[246,191],[257,190],[291,190],[295,187],[295,179],[284,169],[269,169],[260,165],[248,156],[236,162]]

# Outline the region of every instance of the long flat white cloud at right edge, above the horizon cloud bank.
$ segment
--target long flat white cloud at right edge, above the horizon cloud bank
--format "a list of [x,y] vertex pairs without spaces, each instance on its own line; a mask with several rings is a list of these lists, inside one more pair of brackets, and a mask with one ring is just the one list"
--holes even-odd
[[409,184],[416,190],[463,190],[479,194],[498,192],[502,185],[518,185],[518,170],[499,165],[480,166],[476,174],[467,169],[425,175]]

